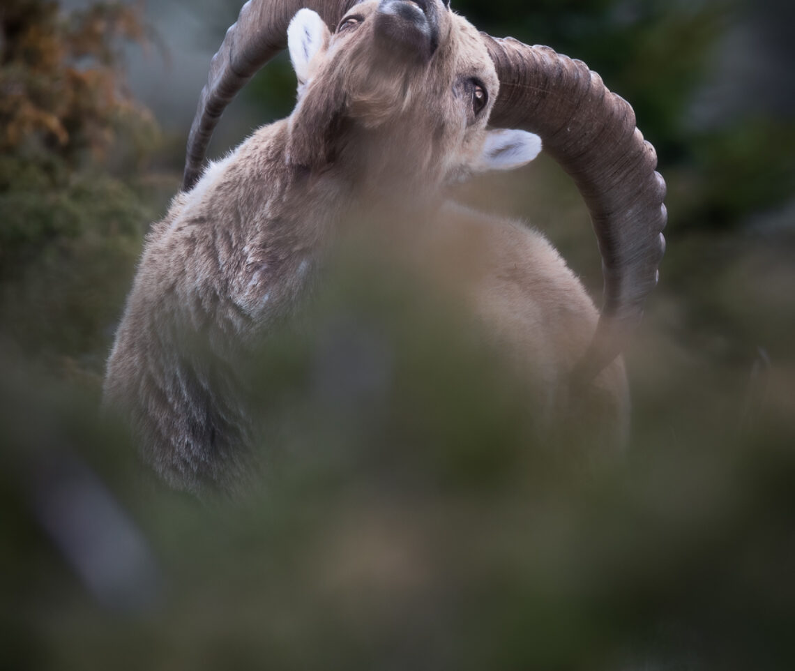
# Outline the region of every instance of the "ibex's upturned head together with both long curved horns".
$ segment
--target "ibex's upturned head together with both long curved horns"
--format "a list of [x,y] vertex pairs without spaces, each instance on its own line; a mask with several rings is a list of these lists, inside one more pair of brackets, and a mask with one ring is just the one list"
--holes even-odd
[[529,161],[538,134],[584,196],[603,258],[602,317],[580,374],[614,359],[657,283],[665,248],[654,149],[632,108],[582,62],[477,33],[448,0],[246,2],[202,91],[183,188],[196,183],[224,107],[287,46],[302,8],[312,13],[297,15],[289,37],[300,96],[290,161],[316,168],[352,148],[363,178],[383,181],[386,170],[435,186],[467,170]]

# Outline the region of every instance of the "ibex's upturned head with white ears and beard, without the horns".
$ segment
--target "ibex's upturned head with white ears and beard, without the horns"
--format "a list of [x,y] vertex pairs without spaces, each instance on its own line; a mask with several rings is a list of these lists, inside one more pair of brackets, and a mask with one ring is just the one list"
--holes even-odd
[[312,10],[290,22],[298,77],[289,158],[355,170],[359,188],[434,192],[471,171],[536,157],[524,130],[486,130],[499,90],[479,33],[433,0],[370,0],[331,33]]

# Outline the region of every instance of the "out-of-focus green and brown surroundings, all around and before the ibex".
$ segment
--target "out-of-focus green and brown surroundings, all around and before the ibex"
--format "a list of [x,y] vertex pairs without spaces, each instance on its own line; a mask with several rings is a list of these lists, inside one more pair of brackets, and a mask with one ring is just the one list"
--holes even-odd
[[[263,486],[199,503],[97,405],[239,5],[0,7],[2,668],[795,668],[795,4],[453,0],[585,60],[657,148],[669,250],[626,456],[531,444],[455,318],[357,258],[318,332],[256,363],[286,425]],[[280,58],[211,153],[293,89]],[[547,232],[598,298],[551,161],[454,196]]]

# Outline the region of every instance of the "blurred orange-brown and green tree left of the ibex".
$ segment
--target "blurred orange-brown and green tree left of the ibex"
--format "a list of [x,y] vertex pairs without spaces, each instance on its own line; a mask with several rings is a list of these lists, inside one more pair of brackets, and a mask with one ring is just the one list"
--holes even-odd
[[148,44],[141,7],[11,0],[0,22],[2,331],[96,375],[154,215],[142,176],[157,122],[122,67],[125,42]]

